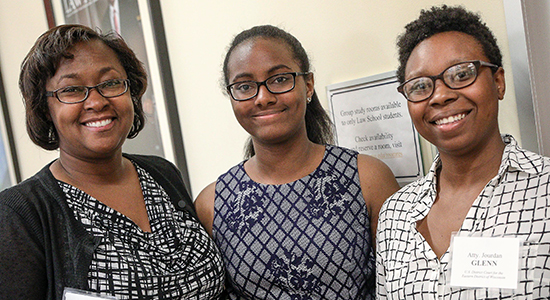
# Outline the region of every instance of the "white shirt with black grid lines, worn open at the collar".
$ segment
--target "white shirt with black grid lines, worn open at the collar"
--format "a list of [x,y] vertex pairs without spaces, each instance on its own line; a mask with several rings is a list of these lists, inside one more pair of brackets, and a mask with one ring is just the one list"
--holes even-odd
[[473,203],[459,234],[523,240],[518,289],[449,286],[449,251],[438,259],[416,229],[435,201],[437,157],[428,175],[390,197],[380,212],[381,299],[550,299],[550,159],[519,148],[512,136],[503,140],[498,175]]

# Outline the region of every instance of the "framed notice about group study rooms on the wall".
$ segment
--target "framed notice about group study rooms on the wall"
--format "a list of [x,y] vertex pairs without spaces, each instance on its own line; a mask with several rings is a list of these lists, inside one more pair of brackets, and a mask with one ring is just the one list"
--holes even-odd
[[395,72],[327,86],[339,146],[386,163],[400,185],[424,175],[418,133]]

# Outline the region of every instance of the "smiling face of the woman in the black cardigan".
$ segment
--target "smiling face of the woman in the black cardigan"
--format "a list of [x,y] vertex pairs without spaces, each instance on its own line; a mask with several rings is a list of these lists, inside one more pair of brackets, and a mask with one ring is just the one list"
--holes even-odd
[[[62,58],[46,82],[46,90],[57,91],[46,93],[51,95],[48,110],[60,150],[52,169],[54,176],[66,182],[73,179],[71,172],[80,170],[68,161],[120,152],[134,120],[132,97],[124,92],[127,74],[115,52],[102,41],[92,40],[74,45],[69,53],[70,58]],[[109,82],[118,82],[120,91],[106,97],[102,90],[107,90],[104,86]]]

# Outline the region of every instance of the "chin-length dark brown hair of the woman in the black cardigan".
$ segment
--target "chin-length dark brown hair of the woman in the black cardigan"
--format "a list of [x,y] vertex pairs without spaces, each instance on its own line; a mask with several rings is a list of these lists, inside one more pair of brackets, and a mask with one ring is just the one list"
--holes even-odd
[[27,132],[31,140],[46,150],[59,148],[57,131],[50,118],[46,82],[56,73],[63,59],[78,43],[100,40],[113,49],[130,80],[134,121],[128,138],[134,138],[145,125],[141,97],[147,88],[147,73],[132,49],[116,33],[102,34],[83,25],[60,25],[42,34],[31,48],[19,74],[19,89],[25,103]]

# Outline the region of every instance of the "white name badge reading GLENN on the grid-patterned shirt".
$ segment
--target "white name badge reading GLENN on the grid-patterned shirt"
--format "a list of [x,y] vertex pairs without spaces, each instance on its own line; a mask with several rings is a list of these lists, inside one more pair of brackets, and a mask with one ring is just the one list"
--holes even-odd
[[454,236],[450,285],[516,289],[520,245],[518,238]]

